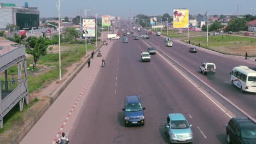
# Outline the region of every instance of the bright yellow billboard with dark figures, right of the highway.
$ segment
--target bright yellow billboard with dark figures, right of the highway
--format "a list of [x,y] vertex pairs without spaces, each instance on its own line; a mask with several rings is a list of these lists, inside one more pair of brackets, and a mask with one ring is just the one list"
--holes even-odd
[[189,10],[174,9],[173,10],[173,28],[188,28],[189,26]]

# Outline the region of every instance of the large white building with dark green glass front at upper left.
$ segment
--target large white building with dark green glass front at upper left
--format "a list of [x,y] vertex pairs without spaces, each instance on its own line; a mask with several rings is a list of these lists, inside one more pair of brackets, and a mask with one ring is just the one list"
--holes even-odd
[[6,29],[8,24],[19,29],[39,27],[39,10],[36,7],[16,7],[16,4],[0,3],[0,29]]

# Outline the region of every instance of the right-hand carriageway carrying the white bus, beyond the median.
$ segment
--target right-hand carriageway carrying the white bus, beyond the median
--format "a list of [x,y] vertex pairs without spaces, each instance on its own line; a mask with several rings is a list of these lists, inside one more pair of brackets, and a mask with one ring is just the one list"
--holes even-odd
[[[146,33],[144,29],[141,34]],[[256,95],[254,93],[241,93],[240,89],[232,87],[230,84],[230,71],[238,65],[246,65],[255,69],[255,64],[244,59],[230,58],[213,55],[205,51],[197,50],[197,53],[189,53],[189,46],[175,43],[173,47],[166,47],[165,39],[155,34],[149,35],[150,44],[160,49],[166,55],[172,57],[179,64],[183,65],[191,73],[206,82],[220,94],[228,98],[236,106],[248,113],[254,119],[256,118]],[[199,67],[203,62],[212,62],[216,64],[217,73],[215,75],[203,75],[199,72]]]

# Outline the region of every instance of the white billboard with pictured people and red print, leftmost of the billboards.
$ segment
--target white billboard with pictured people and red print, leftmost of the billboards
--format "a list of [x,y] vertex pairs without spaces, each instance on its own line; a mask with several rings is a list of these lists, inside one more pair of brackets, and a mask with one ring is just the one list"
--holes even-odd
[[94,19],[83,19],[83,36],[95,37],[95,20]]

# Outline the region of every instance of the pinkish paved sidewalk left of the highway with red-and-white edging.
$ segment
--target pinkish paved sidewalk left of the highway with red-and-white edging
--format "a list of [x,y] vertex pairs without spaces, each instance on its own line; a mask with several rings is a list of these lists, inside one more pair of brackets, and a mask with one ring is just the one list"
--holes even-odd
[[[103,37],[107,38],[107,34],[104,33]],[[91,67],[85,65],[20,143],[53,143],[62,132],[69,133],[101,69],[101,59],[107,56],[113,43],[108,40],[108,45],[101,47],[102,57],[95,53]]]

